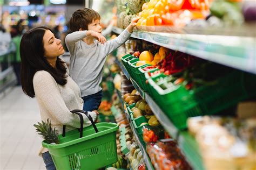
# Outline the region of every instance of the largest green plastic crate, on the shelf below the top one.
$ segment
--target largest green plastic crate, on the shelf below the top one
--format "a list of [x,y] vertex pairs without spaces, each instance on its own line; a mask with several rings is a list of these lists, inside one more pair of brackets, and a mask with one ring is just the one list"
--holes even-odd
[[163,75],[149,79],[155,90],[153,98],[158,99],[157,104],[178,129],[187,128],[188,117],[212,115],[256,95],[256,76],[238,70],[221,77],[214,86],[193,90],[186,90],[184,86],[163,90],[154,82],[160,76]]

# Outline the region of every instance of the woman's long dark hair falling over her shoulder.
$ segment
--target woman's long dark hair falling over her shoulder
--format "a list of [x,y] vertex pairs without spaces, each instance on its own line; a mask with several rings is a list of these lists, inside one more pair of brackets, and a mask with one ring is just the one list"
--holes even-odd
[[[35,97],[33,76],[39,70],[50,73],[60,85],[66,84],[66,68],[64,61],[57,57],[56,68],[53,68],[44,54],[43,37],[48,27],[41,26],[26,32],[21,39],[21,83],[22,90],[30,97]],[[51,31],[51,30],[50,30]],[[52,32],[52,31],[51,31]]]

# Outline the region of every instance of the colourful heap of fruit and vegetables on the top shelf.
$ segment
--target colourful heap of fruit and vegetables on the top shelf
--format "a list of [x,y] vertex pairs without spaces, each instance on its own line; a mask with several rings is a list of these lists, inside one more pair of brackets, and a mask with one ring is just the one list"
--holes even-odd
[[[118,0],[117,26],[125,29],[134,17],[143,26],[223,27],[256,20],[255,3],[237,0]],[[151,30],[152,31],[152,30]]]

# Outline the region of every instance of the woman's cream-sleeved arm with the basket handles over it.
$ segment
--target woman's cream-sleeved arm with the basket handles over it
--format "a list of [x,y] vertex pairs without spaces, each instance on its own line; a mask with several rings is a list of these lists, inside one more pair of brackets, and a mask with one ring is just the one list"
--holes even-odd
[[[66,104],[59,93],[56,81],[48,72],[37,72],[33,77],[33,86],[38,101],[43,104],[45,110],[48,110],[53,118],[62,125],[80,128],[79,117],[72,114],[66,107]],[[96,113],[89,112],[89,114],[93,118],[93,121],[95,121],[97,117]],[[91,122],[85,115],[83,115],[83,118],[84,126],[91,125]]]

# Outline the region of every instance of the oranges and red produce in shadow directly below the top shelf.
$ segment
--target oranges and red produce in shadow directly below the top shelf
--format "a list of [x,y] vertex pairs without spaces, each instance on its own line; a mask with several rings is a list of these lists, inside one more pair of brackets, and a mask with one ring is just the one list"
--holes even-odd
[[[139,59],[136,66],[142,67],[149,64],[150,66],[143,67],[142,70],[147,72],[146,74],[150,77],[160,73],[167,75],[165,78],[156,79],[156,82],[159,82],[160,87],[164,90],[177,85],[182,85],[187,90],[200,86],[213,86],[219,77],[223,77],[234,70],[165,47],[145,46],[148,48],[147,50],[132,53],[134,57]],[[156,70],[150,72],[153,69]]]

